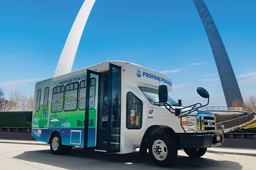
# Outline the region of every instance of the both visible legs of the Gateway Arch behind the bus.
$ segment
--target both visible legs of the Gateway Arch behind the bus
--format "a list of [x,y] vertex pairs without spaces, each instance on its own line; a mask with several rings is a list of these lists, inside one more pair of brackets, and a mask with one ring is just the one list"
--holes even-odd
[[[227,106],[234,100],[243,102],[236,76],[229,61],[221,36],[203,0],[193,0],[203,22],[212,53],[219,72]],[[71,71],[77,47],[95,0],[85,0],[70,30],[69,36],[60,55],[54,77]]]

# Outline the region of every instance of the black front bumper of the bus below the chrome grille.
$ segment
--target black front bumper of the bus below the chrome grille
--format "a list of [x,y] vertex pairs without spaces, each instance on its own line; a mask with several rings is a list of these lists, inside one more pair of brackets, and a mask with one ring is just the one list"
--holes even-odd
[[180,148],[209,148],[221,145],[224,141],[222,133],[179,134]]

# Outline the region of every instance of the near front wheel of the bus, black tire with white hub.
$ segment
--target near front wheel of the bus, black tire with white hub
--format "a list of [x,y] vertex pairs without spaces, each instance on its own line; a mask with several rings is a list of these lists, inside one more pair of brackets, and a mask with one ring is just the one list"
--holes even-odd
[[159,166],[169,166],[177,159],[178,148],[172,136],[159,133],[152,137],[148,147],[153,162]]

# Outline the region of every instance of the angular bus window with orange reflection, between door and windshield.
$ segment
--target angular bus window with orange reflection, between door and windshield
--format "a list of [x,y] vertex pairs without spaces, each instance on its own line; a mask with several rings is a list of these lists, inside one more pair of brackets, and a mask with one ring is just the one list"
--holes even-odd
[[126,128],[140,129],[142,125],[142,101],[132,92],[126,94]]

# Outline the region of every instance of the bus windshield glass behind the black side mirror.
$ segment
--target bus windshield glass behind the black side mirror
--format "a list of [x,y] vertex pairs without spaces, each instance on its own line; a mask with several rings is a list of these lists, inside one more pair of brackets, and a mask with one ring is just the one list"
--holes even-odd
[[[143,94],[146,96],[147,100],[150,101],[153,105],[159,105],[163,103],[159,103],[158,98],[158,89],[150,88],[150,87],[139,87]],[[168,96],[167,103],[170,106],[179,106],[177,102],[175,102],[172,98]]]

